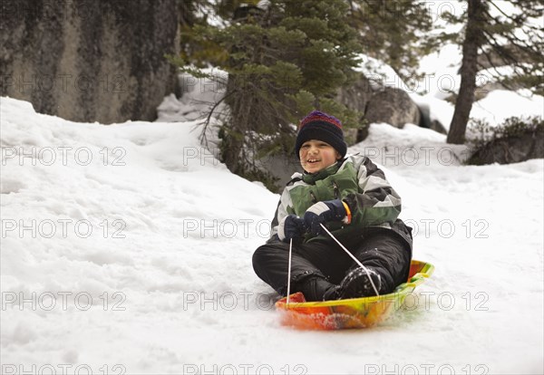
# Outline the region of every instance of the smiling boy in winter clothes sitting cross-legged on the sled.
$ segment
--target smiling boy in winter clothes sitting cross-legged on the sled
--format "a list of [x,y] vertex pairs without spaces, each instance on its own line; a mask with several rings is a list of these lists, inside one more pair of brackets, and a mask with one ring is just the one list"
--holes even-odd
[[287,184],[270,239],[253,255],[258,277],[282,296],[287,294],[293,239],[291,293],[304,293],[306,301],[375,295],[374,286],[379,294],[393,292],[408,277],[412,235],[397,218],[401,198],[384,172],[364,156],[345,157],[342,123],[320,111],[300,121],[295,149],[304,173],[296,173]]

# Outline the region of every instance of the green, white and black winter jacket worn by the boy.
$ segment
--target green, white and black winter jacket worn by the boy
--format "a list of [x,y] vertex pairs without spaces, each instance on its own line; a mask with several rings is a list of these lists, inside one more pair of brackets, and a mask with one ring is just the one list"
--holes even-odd
[[[372,227],[395,229],[393,226],[401,213],[401,197],[385,179],[384,172],[371,159],[361,155],[348,156],[316,174],[293,175],[279,200],[270,240],[277,238],[277,226],[284,216],[304,216],[306,209],[316,202],[332,199],[344,200],[352,211],[349,225],[327,223],[328,229],[339,239],[363,236]],[[409,231],[408,236],[407,230],[401,232],[411,244]],[[305,242],[319,237],[322,236],[306,236]]]

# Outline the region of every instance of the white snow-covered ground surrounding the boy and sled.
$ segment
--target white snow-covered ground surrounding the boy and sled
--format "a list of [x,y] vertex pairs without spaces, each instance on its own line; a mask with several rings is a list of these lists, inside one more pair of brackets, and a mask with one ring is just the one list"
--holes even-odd
[[301,332],[251,265],[278,196],[201,147],[196,122],[0,104],[2,373],[544,371],[543,159],[463,166],[432,130],[372,125],[349,152],[383,166],[435,274],[378,327]]

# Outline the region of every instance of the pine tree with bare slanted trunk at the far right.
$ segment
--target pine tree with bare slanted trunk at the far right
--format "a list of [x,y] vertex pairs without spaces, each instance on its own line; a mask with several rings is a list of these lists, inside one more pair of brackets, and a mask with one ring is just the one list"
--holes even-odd
[[[500,82],[507,88],[517,82],[533,92],[542,93],[544,90],[544,33],[539,24],[534,24],[535,18],[541,22],[544,0],[468,0],[467,3],[466,14],[451,17],[454,23],[465,22],[461,87],[447,139],[448,143],[457,144],[464,142],[479,69],[494,68]],[[510,10],[507,11],[507,7]],[[498,70],[500,66],[515,68],[514,76],[505,76]]]

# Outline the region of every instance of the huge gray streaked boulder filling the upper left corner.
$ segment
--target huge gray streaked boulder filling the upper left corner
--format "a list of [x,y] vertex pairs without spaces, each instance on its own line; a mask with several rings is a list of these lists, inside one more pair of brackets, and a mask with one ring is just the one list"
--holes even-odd
[[67,120],[155,120],[175,90],[176,0],[3,0],[1,95]]

